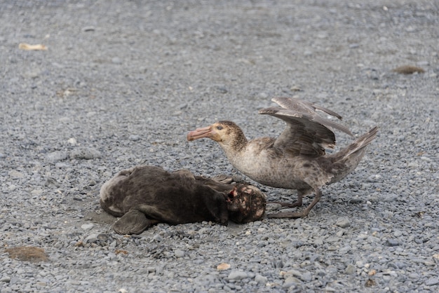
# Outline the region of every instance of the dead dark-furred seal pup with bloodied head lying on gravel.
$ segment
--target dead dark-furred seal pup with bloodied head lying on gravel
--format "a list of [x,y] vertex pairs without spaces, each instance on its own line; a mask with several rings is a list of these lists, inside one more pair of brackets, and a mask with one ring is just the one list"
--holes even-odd
[[248,223],[264,217],[265,204],[265,194],[250,184],[229,184],[188,170],[168,172],[151,165],[122,170],[100,189],[101,207],[121,217],[113,225],[119,234],[140,234],[160,222]]

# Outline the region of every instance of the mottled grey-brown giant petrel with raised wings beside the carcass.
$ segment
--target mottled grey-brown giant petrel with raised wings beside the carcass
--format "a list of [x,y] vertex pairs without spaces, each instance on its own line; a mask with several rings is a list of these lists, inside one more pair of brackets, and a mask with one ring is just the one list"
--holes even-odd
[[302,198],[311,192],[314,200],[302,212],[278,212],[269,217],[305,217],[321,198],[320,188],[344,178],[352,172],[365,153],[365,147],[377,135],[377,127],[358,137],[351,145],[335,154],[325,149],[335,147],[332,129],[352,135],[344,125],[318,115],[322,111],[341,119],[339,114],[306,102],[288,97],[273,98],[281,107],[259,110],[281,118],[287,127],[277,139],[261,137],[248,140],[241,128],[231,121],[219,121],[205,128],[197,128],[187,135],[189,141],[208,137],[224,150],[230,163],[251,179],[283,189],[297,189],[297,202],[283,204],[301,206]]

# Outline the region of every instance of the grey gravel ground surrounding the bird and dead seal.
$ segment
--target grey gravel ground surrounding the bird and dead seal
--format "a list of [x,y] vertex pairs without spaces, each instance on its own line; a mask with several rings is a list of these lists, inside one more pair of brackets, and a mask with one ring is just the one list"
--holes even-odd
[[[1,1],[0,292],[438,292],[438,2],[371,2]],[[112,231],[107,179],[236,174],[187,131],[277,135],[257,110],[279,95],[380,126],[309,217]]]

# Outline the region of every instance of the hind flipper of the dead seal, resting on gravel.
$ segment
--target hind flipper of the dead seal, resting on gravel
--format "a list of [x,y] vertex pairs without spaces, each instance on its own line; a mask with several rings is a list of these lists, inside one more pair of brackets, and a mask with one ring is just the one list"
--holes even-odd
[[130,210],[114,223],[113,229],[119,234],[140,234],[156,222],[156,220],[147,219],[145,214],[139,210]]

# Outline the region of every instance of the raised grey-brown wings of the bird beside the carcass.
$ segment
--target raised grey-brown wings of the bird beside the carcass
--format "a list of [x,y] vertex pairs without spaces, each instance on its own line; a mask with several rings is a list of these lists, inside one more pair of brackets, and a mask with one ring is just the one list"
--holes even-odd
[[267,114],[280,118],[287,123],[287,128],[274,142],[274,147],[288,151],[294,156],[318,157],[325,154],[325,149],[335,147],[335,135],[330,128],[352,133],[338,123],[316,114],[316,109],[341,118],[335,112],[323,107],[297,99],[276,97],[273,99],[281,107],[259,110],[259,114]]

